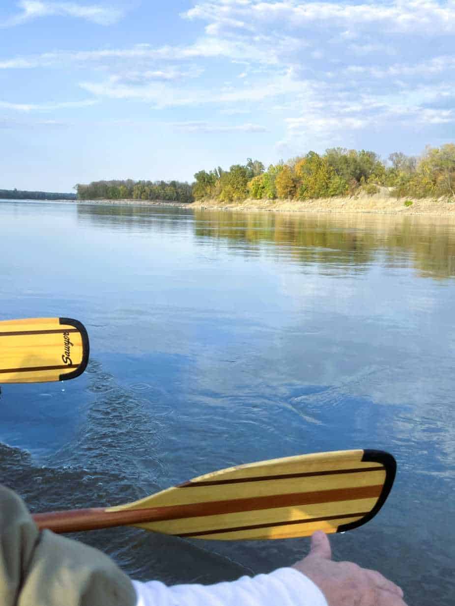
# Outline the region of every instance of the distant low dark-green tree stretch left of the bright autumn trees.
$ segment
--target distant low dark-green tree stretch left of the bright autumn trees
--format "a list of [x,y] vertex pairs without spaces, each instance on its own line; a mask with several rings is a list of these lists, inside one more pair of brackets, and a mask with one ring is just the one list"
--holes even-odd
[[124,198],[135,200],[169,200],[172,202],[192,202],[192,186],[180,181],[92,181],[89,185],[78,183],[76,191],[79,200]]

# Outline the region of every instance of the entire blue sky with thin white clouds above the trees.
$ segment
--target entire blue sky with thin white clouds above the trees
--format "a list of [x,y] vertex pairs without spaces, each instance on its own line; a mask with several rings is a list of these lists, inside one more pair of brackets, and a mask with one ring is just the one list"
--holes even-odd
[[2,0],[0,188],[455,141],[455,0]]

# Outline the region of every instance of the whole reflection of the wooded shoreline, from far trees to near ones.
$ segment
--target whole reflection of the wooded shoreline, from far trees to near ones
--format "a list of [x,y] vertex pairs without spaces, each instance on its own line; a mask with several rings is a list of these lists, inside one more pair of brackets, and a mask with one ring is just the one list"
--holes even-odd
[[99,227],[194,230],[197,241],[223,240],[244,256],[257,256],[261,245],[277,245],[275,253],[281,259],[357,266],[363,271],[382,253],[390,267],[412,262],[422,276],[455,276],[455,224],[445,218],[218,210],[190,214],[186,208],[126,204],[78,204],[77,210],[81,221]]

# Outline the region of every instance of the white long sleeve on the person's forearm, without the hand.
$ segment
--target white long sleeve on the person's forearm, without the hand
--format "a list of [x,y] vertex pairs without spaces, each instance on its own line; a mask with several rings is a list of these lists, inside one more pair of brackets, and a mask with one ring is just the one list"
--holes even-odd
[[133,581],[136,606],[328,606],[324,594],[294,568],[216,585]]

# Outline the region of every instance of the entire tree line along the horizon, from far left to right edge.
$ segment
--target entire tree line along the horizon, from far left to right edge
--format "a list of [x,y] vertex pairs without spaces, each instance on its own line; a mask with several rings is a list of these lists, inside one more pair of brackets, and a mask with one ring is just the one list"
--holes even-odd
[[[242,201],[246,198],[307,200],[332,196],[374,194],[379,187],[392,195],[413,198],[455,199],[455,144],[427,146],[417,158],[396,151],[382,161],[374,151],[332,147],[319,155],[309,151],[287,162],[265,165],[248,158],[233,164],[200,170],[192,184],[181,181],[92,181],[77,184],[77,198],[136,199],[192,202],[194,199]],[[74,199],[74,194],[42,191],[0,190],[0,198]]]

